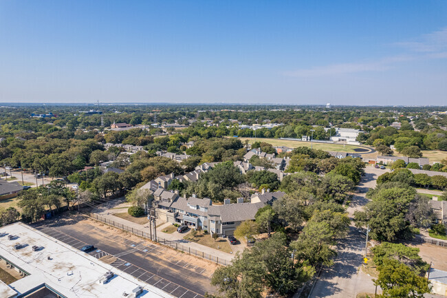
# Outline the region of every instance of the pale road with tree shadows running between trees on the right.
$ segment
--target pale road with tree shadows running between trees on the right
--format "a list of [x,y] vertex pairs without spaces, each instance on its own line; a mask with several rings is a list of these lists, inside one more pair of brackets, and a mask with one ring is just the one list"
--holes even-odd
[[[347,209],[349,217],[353,218],[354,211],[362,210],[368,200],[365,195],[369,188],[375,187],[375,181],[383,170],[368,166],[362,182],[357,187],[356,195]],[[362,258],[364,256],[365,235],[359,228],[351,224],[347,237],[340,240],[334,260],[334,266],[324,268],[317,279],[314,289],[309,297],[356,297],[360,292],[374,292],[375,286],[371,277],[362,273]]]

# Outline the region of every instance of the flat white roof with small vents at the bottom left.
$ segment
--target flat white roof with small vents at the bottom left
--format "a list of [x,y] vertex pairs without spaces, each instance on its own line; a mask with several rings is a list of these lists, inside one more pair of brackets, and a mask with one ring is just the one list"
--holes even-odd
[[[144,292],[138,297],[173,298],[168,293],[26,224],[3,226],[0,228],[0,233],[17,236],[15,240],[8,240],[7,235],[0,237],[0,256],[30,274],[10,284],[10,287],[20,294],[46,284],[67,298],[122,298],[123,292],[129,294],[133,289],[142,286]],[[16,250],[15,244],[26,244],[26,246]],[[43,246],[43,249],[32,251],[34,245]],[[100,277],[107,271],[113,272],[116,276],[107,284],[98,284]]]

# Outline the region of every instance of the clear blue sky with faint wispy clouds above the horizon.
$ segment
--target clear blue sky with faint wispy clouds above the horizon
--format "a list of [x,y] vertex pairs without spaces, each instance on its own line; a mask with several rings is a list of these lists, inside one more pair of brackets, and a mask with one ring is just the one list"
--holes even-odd
[[447,1],[1,0],[0,103],[447,105]]

